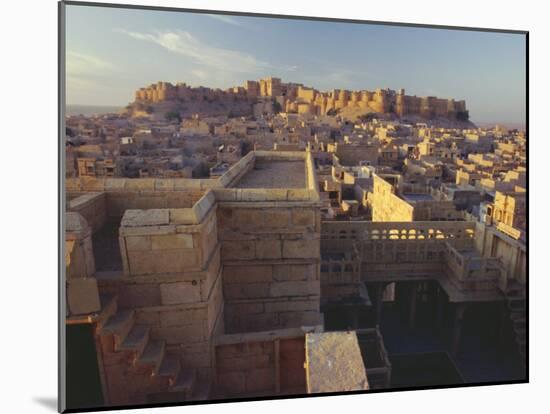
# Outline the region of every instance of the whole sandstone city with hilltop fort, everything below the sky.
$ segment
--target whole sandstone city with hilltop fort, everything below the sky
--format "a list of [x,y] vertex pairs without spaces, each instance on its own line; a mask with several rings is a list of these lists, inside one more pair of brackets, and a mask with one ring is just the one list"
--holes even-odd
[[270,77],[65,136],[75,406],[526,379],[525,132]]

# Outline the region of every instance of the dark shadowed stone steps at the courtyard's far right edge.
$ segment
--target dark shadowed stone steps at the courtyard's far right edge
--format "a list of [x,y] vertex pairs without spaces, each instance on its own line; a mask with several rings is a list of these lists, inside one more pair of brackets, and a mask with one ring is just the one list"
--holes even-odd
[[527,364],[527,302],[525,287],[519,283],[509,283],[506,291],[506,306],[510,316],[512,332],[517,350],[524,366]]

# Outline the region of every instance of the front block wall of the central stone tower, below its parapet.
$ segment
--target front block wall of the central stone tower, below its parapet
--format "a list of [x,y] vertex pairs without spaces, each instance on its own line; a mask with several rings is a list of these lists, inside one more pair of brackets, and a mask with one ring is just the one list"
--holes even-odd
[[228,333],[317,325],[320,213],[304,206],[218,206]]

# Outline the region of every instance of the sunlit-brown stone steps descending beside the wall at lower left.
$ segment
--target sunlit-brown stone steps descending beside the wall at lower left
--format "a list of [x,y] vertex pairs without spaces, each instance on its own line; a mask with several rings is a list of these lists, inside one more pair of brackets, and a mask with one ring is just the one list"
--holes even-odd
[[98,319],[104,372],[112,405],[206,400],[210,383],[199,381],[193,368],[166,354],[166,343],[137,324],[135,312],[118,309],[114,295],[101,295]]

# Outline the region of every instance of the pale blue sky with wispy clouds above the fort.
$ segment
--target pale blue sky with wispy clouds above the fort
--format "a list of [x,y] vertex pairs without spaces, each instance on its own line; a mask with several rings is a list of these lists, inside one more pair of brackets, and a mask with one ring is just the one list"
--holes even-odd
[[126,105],[158,80],[465,99],[474,122],[525,122],[525,36],[68,5],[67,103]]

